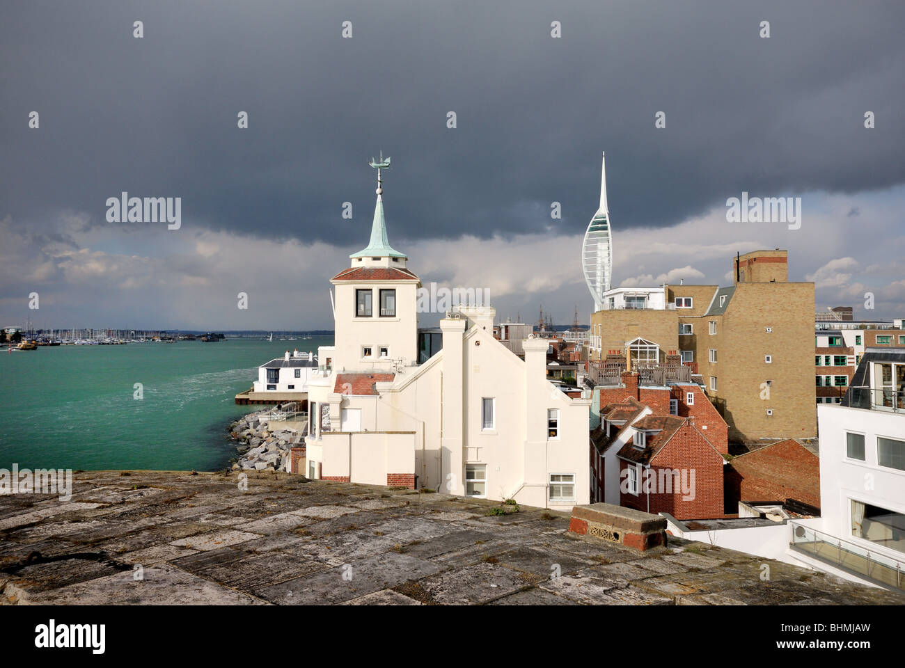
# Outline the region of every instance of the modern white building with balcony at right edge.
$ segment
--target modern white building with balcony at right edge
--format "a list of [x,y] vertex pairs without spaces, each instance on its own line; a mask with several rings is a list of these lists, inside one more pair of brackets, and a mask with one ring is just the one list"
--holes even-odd
[[757,526],[728,520],[713,531],[670,520],[670,530],[905,590],[905,349],[866,348],[842,403],[817,406],[817,422],[820,517]]

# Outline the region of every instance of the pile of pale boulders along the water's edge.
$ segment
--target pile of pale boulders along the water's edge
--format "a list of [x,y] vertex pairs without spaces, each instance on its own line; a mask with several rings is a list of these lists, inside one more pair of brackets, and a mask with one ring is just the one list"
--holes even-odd
[[263,408],[229,425],[230,438],[239,442],[233,471],[289,471],[290,448],[301,436],[295,429],[280,429],[279,423],[271,425],[270,412]]

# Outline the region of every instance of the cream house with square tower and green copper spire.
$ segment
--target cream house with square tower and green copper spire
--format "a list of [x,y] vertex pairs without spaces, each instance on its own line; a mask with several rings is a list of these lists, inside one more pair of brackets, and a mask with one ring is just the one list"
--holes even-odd
[[370,243],[331,280],[336,343],[319,348],[308,385],[305,473],[559,510],[587,503],[590,399],[547,380],[548,340],[521,341],[520,359],[493,337],[496,310],[460,305],[419,359],[421,282],[387,240],[388,163],[371,163]]

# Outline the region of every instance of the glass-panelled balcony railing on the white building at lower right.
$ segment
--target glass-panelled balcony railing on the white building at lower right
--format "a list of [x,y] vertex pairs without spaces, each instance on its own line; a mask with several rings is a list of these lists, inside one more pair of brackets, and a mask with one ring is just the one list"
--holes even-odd
[[790,521],[789,527],[793,549],[882,585],[905,589],[903,562],[797,522]]

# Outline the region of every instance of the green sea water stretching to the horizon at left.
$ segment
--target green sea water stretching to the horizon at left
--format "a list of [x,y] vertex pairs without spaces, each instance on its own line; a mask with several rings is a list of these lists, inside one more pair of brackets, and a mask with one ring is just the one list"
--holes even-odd
[[[236,455],[230,421],[257,368],[332,337],[0,350],[0,468],[215,471]],[[136,383],[144,398],[134,398]]]

